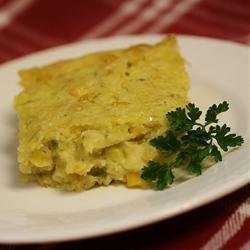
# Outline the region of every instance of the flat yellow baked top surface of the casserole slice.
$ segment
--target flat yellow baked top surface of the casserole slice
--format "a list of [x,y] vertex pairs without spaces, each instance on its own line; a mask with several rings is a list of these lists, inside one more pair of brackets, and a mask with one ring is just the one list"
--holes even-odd
[[[88,153],[168,126],[165,113],[187,103],[185,61],[174,36],[19,72],[15,99],[20,158],[44,142],[82,139]],[[65,146],[66,147],[66,146]]]

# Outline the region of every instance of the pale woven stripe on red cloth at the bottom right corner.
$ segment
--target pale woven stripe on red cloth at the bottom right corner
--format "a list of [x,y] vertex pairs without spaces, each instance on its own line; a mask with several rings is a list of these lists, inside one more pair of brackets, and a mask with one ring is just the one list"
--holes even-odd
[[200,250],[221,249],[243,226],[250,217],[250,198],[246,199],[226,220],[223,226],[210,238]]

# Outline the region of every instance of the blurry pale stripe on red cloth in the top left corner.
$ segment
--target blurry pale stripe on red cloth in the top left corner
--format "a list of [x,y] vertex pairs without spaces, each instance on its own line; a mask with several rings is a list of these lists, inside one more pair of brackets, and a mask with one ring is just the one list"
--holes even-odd
[[23,10],[28,8],[34,0],[12,1],[0,9],[0,29],[6,27]]

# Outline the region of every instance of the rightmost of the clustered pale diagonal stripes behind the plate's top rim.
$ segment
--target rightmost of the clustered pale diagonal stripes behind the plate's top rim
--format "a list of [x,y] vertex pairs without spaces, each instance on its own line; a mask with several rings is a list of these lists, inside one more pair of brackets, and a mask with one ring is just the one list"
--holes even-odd
[[126,25],[116,32],[115,35],[118,34],[129,34],[133,33],[139,28],[141,28],[145,23],[154,20],[159,16],[162,11],[165,11],[169,8],[169,6],[173,3],[174,0],[154,0],[152,4],[145,8],[139,15],[132,19],[130,22],[128,21]]

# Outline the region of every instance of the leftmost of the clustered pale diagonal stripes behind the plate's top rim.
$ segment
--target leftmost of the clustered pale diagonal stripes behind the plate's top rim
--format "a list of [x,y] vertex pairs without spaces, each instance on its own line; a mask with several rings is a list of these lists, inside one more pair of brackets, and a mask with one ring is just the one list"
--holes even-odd
[[104,20],[101,24],[94,27],[79,39],[98,37],[105,34],[106,32],[109,32],[114,27],[116,27],[117,24],[126,18],[129,18],[131,15],[139,12],[142,8],[142,5],[147,1],[148,0],[124,1],[115,13],[113,13],[109,18]]

